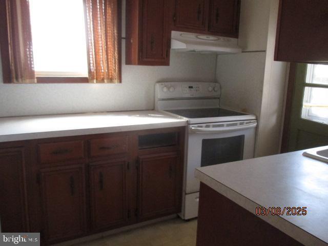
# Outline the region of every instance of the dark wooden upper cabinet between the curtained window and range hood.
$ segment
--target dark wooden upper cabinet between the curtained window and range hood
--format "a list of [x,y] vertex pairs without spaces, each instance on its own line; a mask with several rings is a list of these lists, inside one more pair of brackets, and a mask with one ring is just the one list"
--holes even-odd
[[166,0],[127,0],[126,64],[170,64],[171,35]]

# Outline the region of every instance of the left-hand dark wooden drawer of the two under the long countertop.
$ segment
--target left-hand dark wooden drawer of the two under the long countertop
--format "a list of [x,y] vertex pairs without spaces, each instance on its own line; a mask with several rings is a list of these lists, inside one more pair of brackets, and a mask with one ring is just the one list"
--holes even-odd
[[38,149],[40,163],[51,163],[84,158],[83,141],[40,144],[38,145]]

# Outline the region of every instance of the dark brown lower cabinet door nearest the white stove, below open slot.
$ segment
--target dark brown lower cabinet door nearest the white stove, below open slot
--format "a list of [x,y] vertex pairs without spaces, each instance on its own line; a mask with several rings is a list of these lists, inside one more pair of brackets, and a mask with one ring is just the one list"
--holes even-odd
[[139,157],[140,221],[179,212],[180,157],[177,152]]

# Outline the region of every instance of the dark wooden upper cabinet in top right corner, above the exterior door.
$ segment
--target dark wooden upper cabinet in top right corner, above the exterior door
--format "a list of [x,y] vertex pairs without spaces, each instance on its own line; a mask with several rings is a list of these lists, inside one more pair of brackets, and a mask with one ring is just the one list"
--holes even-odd
[[275,60],[328,61],[328,0],[280,0]]

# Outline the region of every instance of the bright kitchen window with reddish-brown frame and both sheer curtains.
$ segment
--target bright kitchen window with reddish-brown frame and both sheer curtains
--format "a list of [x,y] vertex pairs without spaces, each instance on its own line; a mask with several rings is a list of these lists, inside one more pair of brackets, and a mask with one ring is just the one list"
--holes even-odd
[[120,0],[0,4],[5,83],[120,83]]

